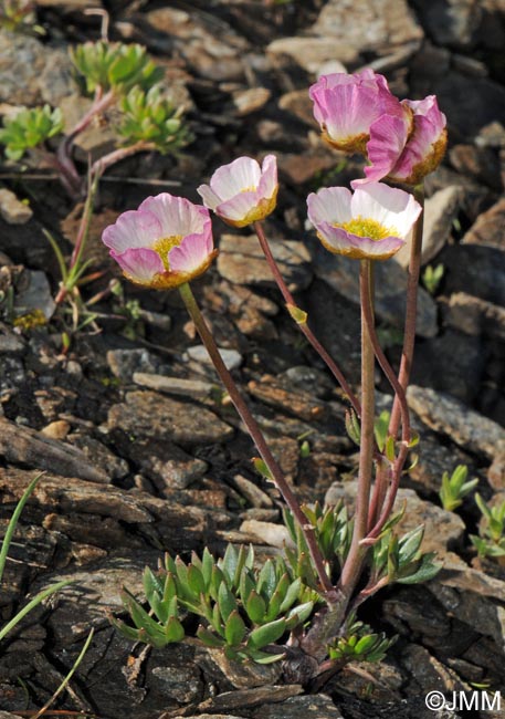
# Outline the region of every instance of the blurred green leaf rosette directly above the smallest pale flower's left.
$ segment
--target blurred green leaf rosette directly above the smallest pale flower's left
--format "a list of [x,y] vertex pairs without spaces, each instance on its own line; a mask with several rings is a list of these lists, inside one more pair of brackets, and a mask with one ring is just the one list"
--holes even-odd
[[138,85],[133,87],[120,107],[124,115],[117,129],[128,145],[144,140],[164,154],[191,139],[181,118],[182,110],[175,107],[157,86],[147,92]]

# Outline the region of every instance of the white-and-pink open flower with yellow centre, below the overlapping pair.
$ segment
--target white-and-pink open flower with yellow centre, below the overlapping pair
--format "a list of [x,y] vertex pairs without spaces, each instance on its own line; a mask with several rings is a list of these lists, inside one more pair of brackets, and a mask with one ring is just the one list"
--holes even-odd
[[308,196],[307,206],[325,248],[358,260],[387,260],[398,252],[421,213],[412,195],[381,183],[354,195],[345,187],[323,188]]

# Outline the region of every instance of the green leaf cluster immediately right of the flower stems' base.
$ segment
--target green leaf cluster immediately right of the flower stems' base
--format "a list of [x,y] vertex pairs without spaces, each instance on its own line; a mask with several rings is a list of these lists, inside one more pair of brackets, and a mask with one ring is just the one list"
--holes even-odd
[[442,564],[435,562],[435,552],[421,552],[424,525],[420,524],[407,534],[399,536],[394,525],[403,512],[394,514],[386,524],[379,541],[374,545],[371,566],[374,581],[382,585],[420,584],[433,579]]

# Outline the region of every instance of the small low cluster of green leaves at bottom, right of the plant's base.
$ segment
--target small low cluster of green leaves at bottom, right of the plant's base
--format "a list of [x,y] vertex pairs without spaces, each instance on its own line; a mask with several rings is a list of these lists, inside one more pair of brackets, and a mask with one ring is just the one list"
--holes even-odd
[[375,633],[368,624],[350,616],[346,623],[345,636],[337,637],[328,646],[330,659],[348,661],[381,661],[397,637],[388,638],[383,632]]

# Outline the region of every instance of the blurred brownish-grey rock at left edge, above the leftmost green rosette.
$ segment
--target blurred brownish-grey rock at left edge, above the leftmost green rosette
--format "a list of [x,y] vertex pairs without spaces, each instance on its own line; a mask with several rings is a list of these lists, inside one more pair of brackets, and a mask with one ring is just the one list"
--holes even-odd
[[75,91],[66,52],[28,34],[0,32],[0,102],[57,105]]

